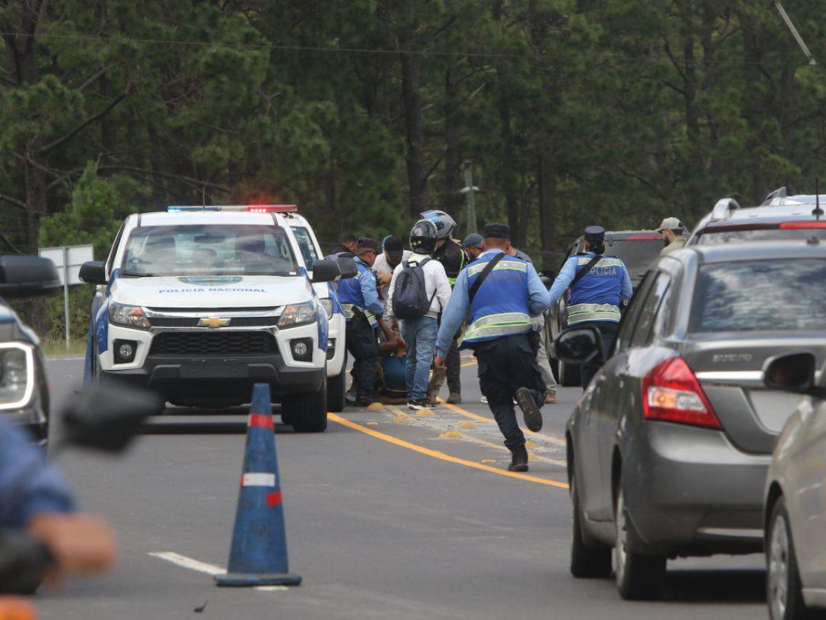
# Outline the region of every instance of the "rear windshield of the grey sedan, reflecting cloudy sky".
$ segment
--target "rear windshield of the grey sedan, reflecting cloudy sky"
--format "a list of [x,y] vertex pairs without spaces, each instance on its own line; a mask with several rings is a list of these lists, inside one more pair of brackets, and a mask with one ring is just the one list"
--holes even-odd
[[691,308],[691,331],[823,331],[826,260],[761,260],[705,265]]

